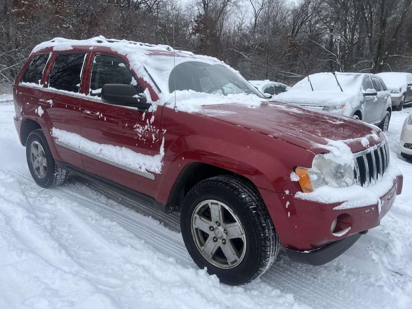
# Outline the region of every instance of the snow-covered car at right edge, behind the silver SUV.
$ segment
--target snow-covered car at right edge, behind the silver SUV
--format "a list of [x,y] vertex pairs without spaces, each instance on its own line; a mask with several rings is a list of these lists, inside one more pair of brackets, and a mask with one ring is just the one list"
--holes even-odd
[[392,110],[402,110],[412,104],[412,74],[403,72],[378,73],[391,92]]

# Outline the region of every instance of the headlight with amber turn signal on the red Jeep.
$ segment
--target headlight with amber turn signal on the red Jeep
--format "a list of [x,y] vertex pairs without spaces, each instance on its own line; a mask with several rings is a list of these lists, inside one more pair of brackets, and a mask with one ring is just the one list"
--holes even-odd
[[299,176],[302,192],[306,193],[323,186],[342,188],[355,184],[353,167],[332,162],[322,154],[315,156],[311,169],[297,167],[295,173]]

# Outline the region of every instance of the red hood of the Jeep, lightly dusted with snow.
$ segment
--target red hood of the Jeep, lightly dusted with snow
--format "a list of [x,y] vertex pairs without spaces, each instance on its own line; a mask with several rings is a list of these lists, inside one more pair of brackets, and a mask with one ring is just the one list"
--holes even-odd
[[323,146],[330,140],[343,140],[354,153],[385,139],[377,127],[358,120],[276,101],[256,108],[205,105],[197,113],[279,138],[315,154],[329,152]]

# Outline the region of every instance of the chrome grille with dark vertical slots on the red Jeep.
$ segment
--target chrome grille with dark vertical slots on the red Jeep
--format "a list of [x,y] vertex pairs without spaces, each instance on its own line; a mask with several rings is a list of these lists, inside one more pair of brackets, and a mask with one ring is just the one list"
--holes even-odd
[[389,146],[386,140],[354,155],[358,185],[363,187],[374,185],[388,170]]

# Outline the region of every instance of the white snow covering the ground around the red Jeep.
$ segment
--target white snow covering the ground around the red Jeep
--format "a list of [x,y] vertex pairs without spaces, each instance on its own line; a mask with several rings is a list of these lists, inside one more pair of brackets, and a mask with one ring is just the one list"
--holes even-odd
[[411,308],[412,164],[398,146],[411,111],[391,119],[404,190],[379,227],[326,265],[281,252],[260,279],[230,287],[194,265],[178,214],[75,176],[54,189],[35,185],[14,107],[0,101],[0,308]]

